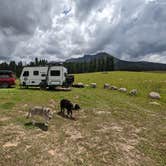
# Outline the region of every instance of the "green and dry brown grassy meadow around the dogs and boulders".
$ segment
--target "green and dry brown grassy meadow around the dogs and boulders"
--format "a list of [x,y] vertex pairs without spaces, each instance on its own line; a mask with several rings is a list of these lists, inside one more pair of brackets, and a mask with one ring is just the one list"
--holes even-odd
[[[75,82],[95,82],[97,88],[0,89],[0,165],[166,165],[166,73],[77,74]],[[136,88],[138,95],[103,89],[104,83]],[[151,91],[161,99],[149,99]],[[80,104],[75,120],[58,114],[63,98]],[[54,107],[48,131],[26,119],[36,105]]]

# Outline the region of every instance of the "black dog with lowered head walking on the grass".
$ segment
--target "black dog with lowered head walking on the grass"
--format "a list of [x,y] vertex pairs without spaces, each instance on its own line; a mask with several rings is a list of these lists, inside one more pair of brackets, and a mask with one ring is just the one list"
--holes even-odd
[[64,114],[65,109],[67,110],[67,115],[72,117],[72,110],[79,110],[80,106],[78,104],[73,105],[70,100],[62,99],[60,102],[61,112]]

